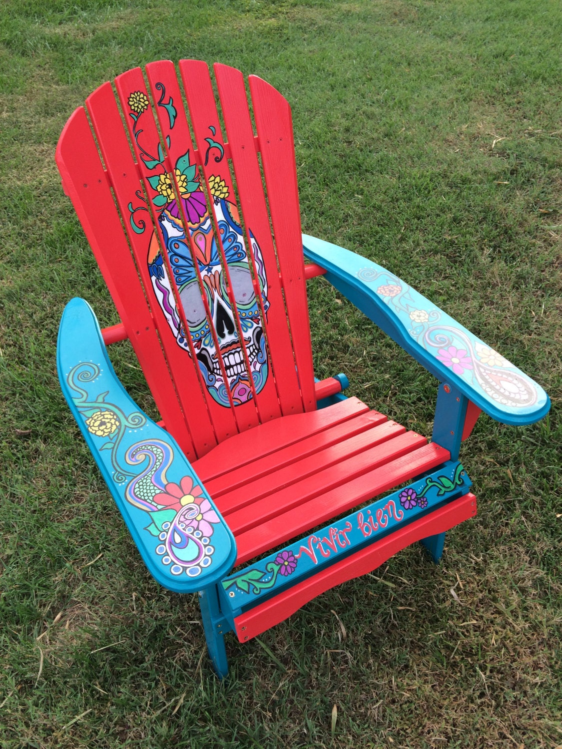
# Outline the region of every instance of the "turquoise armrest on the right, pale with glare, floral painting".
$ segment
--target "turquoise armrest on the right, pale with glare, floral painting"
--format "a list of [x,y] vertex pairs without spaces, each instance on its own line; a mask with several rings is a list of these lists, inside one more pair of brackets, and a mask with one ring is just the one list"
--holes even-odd
[[304,255],[325,278],[441,382],[456,386],[493,419],[532,424],[549,396],[411,286],[366,258],[303,234]]

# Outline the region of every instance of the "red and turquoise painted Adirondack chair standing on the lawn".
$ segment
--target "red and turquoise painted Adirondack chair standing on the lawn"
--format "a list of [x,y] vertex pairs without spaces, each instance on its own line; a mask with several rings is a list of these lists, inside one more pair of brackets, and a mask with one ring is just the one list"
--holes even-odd
[[[61,134],[63,188],[121,324],[100,330],[71,300],[57,363],[149,571],[199,593],[223,677],[226,632],[250,640],[414,542],[438,562],[476,514],[458,458],[480,411],[529,424],[549,398],[393,273],[301,235],[278,91],[250,76],[255,135],[242,74],[216,64],[223,130],[207,65],[179,72],[187,107],[174,64],[153,62],[148,84],[140,68],[118,76],[116,100],[104,83]],[[429,443],[345,398],[345,375],[315,381],[305,287],[321,274],[437,377]],[[109,362],[123,339],[158,423]]]

